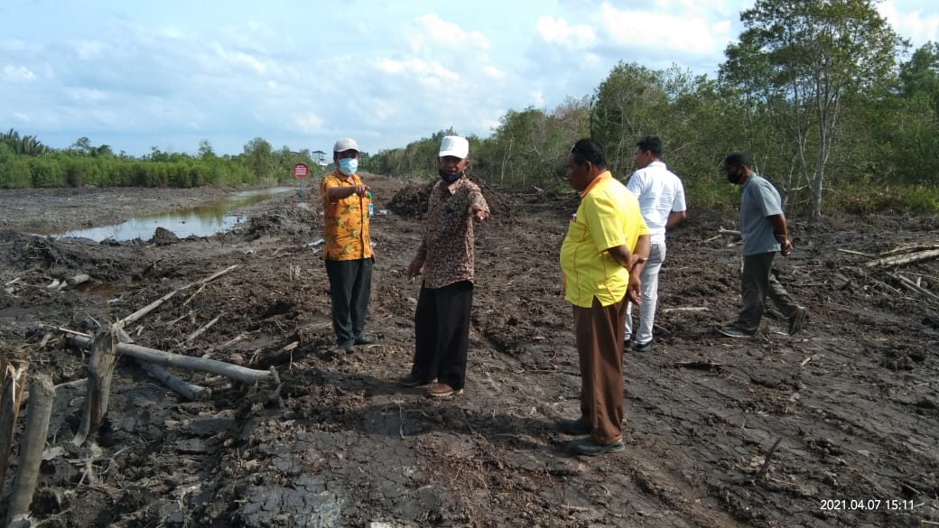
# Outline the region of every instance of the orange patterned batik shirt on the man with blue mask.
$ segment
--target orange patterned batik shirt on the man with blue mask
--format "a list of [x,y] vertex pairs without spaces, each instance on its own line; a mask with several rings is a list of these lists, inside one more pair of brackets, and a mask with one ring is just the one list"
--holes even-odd
[[355,260],[374,255],[368,235],[368,204],[371,198],[352,194],[331,202],[330,189],[362,185],[359,175],[347,179],[338,170],[332,171],[319,182],[319,197],[323,201],[323,258]]

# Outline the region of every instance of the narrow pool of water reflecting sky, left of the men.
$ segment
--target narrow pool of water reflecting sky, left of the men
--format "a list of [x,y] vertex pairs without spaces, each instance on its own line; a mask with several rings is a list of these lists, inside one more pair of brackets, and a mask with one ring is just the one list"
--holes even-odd
[[77,229],[55,236],[91,239],[98,242],[108,239],[115,241],[141,239],[148,241],[153,238],[157,227],[162,227],[173,231],[180,239],[192,235],[209,237],[244,221],[242,215],[229,214],[232,210],[263,202],[276,194],[290,191],[296,192],[297,189],[294,187],[273,187],[270,189],[240,191],[227,196],[222,201],[196,206],[189,210],[175,210],[173,212],[140,216],[118,225]]

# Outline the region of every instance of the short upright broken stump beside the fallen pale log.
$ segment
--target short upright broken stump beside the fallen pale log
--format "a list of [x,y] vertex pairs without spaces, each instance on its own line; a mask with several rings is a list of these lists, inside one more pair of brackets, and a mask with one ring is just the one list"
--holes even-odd
[[[108,412],[111,399],[111,380],[117,361],[117,325],[95,334],[91,340],[91,356],[88,358],[88,384],[85,397],[85,412],[82,425],[71,443],[81,445],[89,433],[98,430]],[[76,337],[84,339],[84,337]]]

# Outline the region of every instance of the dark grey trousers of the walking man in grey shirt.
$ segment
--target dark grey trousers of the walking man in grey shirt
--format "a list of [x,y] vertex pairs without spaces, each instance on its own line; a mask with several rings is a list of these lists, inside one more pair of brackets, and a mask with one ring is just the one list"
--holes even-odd
[[756,332],[760,328],[767,297],[787,318],[793,317],[799,309],[799,305],[793,302],[786,288],[779,284],[773,274],[775,257],[776,252],[744,256],[744,272],[740,277],[740,296],[744,299],[744,307],[737,314],[735,325],[747,332]]

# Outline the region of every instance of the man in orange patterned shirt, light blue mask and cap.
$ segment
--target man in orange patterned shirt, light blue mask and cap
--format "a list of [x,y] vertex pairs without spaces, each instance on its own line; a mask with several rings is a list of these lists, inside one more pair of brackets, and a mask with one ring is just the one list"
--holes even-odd
[[332,148],[335,170],[319,182],[323,202],[323,259],[330,277],[332,330],[336,345],[351,352],[368,345],[375,336],[362,334],[372,290],[375,254],[368,235],[368,185],[359,170],[359,144],[343,138]]

